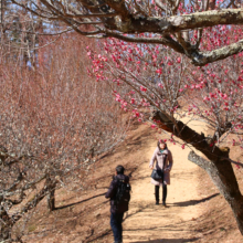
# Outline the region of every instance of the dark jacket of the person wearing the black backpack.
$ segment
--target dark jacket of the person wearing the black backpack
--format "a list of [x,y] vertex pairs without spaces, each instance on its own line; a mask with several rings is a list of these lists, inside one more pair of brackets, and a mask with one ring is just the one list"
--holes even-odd
[[117,192],[118,180],[124,180],[126,183],[128,183],[129,177],[126,175],[117,175],[116,177],[113,178],[109,189],[105,194],[106,198],[110,199],[110,212],[112,213],[123,213],[128,210],[128,203],[122,203],[119,204],[119,207],[117,207],[115,203],[115,196]]

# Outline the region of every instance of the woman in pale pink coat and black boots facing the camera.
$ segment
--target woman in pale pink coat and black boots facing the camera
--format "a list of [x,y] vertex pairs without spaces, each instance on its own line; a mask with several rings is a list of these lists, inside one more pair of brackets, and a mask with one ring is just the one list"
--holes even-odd
[[163,180],[154,180],[155,184],[156,204],[159,204],[159,187],[162,187],[162,205],[166,205],[167,198],[167,184],[170,184],[170,170],[172,168],[173,159],[171,151],[167,148],[167,144],[163,140],[159,140],[157,148],[151,157],[149,168],[163,171]]

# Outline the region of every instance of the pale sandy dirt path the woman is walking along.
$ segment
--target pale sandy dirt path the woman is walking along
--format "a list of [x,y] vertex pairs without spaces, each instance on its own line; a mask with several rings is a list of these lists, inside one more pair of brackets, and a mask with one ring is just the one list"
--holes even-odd
[[[201,124],[191,127],[202,131]],[[198,203],[201,197],[197,192],[199,169],[188,161],[189,149],[180,146],[169,146],[173,155],[171,184],[168,186],[167,204],[155,204],[155,187],[150,183],[151,170],[148,169],[150,157],[156,148],[156,141],[142,154],[142,161],[133,181],[130,210],[124,222],[124,242],[197,242],[192,232],[193,224],[203,210]],[[161,189],[160,189],[161,199]]]

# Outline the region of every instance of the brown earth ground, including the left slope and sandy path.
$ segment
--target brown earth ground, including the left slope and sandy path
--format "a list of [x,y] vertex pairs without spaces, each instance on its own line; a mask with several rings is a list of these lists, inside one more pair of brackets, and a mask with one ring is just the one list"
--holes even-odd
[[[202,124],[191,126],[202,131]],[[126,140],[96,165],[86,191],[60,189],[57,210],[51,213],[46,211],[45,201],[38,207],[25,226],[23,242],[112,243],[109,202],[104,193],[119,163],[127,169],[133,187],[130,208],[124,221],[124,243],[243,242],[225,200],[208,175],[188,161],[189,148],[168,144],[175,161],[168,186],[169,208],[155,205],[148,162],[158,138],[166,135],[159,135],[147,125],[134,125]],[[233,158],[242,156],[242,150],[235,148],[231,152]],[[235,172],[243,186],[242,169]]]

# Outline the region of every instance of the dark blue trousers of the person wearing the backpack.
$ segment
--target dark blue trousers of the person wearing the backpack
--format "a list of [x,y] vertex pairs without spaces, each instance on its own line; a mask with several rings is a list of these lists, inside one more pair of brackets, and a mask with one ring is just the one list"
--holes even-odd
[[112,213],[110,214],[110,226],[113,230],[114,241],[116,243],[123,242],[123,219],[124,213]]

